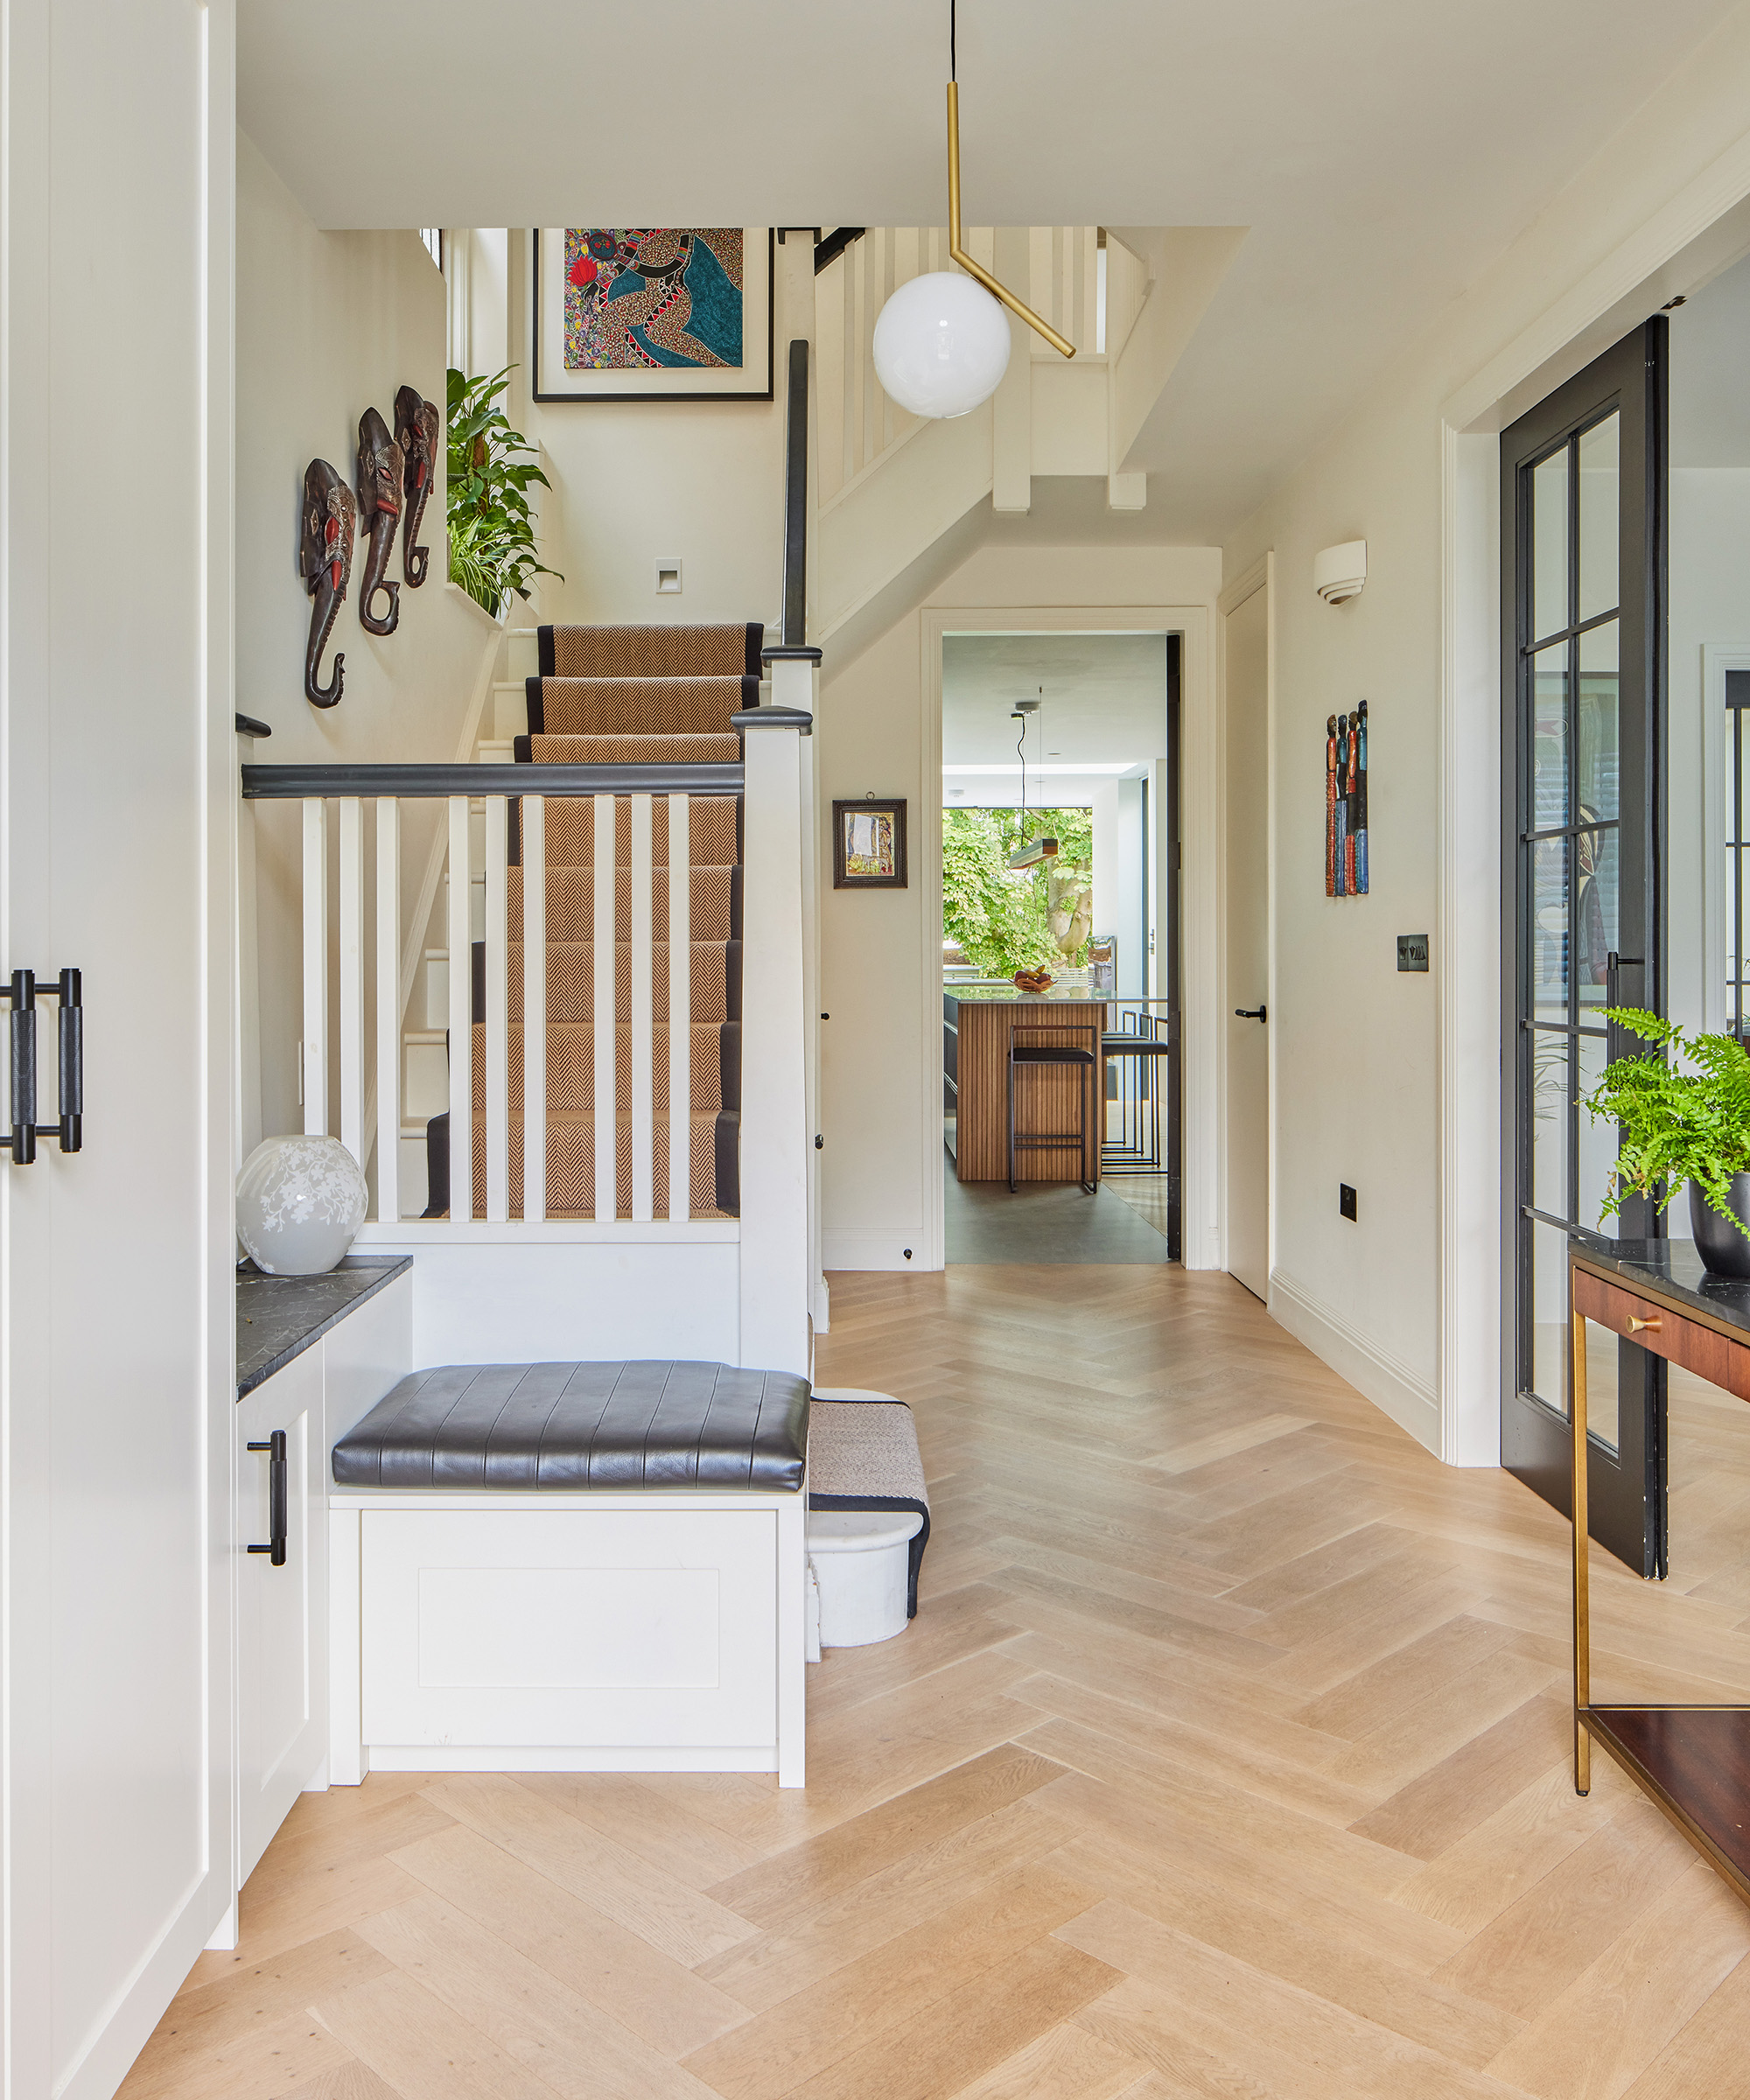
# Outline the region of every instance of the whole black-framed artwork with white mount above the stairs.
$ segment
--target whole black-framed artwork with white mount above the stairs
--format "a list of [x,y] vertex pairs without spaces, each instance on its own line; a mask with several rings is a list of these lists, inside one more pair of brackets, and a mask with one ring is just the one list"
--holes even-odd
[[542,227],[536,401],[771,401],[771,227]]

